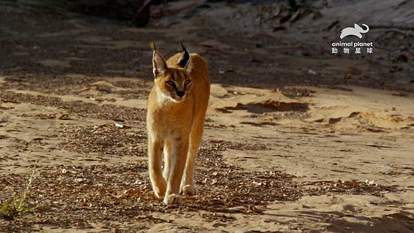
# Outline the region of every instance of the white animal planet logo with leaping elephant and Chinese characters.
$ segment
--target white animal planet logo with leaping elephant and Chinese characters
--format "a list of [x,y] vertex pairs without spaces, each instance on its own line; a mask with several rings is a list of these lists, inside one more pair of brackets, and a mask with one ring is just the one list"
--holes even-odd
[[[354,27],[353,28],[344,28],[341,31],[341,34],[339,36],[340,39],[344,39],[344,37],[348,37],[348,36],[355,36],[358,37],[359,39],[362,39],[362,34],[366,33],[369,31],[369,27],[368,25],[362,23],[362,26],[365,27],[362,28],[361,26],[357,25],[357,23],[354,23]],[[366,48],[366,53],[367,54],[372,54],[373,53],[373,42],[333,42],[332,43],[332,54],[337,54],[338,53],[338,48],[337,47],[344,47],[344,54],[349,54],[351,52],[351,49],[349,47],[353,47],[355,48],[355,54],[361,54],[362,50],[361,48]]]

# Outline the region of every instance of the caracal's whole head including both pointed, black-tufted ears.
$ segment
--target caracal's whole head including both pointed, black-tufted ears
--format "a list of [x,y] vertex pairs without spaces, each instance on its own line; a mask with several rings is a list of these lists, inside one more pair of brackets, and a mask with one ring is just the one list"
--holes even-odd
[[163,98],[174,103],[186,100],[193,89],[193,80],[188,75],[190,72],[190,53],[181,43],[183,52],[174,67],[168,67],[166,61],[158,52],[155,43],[151,42],[152,72],[155,77],[157,92]]

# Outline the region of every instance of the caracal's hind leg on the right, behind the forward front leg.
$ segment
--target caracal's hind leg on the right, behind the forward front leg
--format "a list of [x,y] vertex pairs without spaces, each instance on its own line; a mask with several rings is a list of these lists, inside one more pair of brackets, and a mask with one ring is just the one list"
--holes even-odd
[[183,195],[197,194],[197,188],[195,188],[194,185],[194,163],[195,156],[197,155],[201,138],[203,136],[204,119],[202,119],[202,121],[198,121],[196,124],[197,125],[194,125],[195,127],[190,134],[190,145],[188,146],[186,169],[184,170],[183,179],[181,179],[180,192]]

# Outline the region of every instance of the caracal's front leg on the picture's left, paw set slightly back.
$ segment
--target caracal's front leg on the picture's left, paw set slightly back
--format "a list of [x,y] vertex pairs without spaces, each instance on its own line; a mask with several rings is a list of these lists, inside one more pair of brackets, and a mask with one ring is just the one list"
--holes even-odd
[[166,193],[166,180],[161,173],[161,154],[164,143],[154,140],[148,136],[148,170],[150,172],[150,180],[152,190],[157,198],[163,198]]

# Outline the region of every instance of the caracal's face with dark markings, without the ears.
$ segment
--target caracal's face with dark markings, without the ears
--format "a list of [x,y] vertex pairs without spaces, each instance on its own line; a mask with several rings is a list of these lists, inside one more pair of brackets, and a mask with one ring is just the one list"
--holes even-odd
[[168,68],[166,72],[157,76],[155,85],[157,85],[164,98],[175,103],[181,103],[186,100],[193,89],[193,80],[184,69]]

